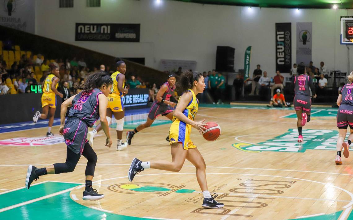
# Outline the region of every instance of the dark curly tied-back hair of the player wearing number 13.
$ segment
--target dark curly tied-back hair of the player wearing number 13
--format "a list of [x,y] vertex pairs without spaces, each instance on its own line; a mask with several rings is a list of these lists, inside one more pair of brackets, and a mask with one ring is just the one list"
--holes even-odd
[[94,74],[91,74],[85,84],[82,86],[75,87],[76,89],[82,89],[84,92],[88,92],[95,88],[100,88],[103,84],[111,85],[113,84],[112,78],[106,75],[103,71],[98,71]]

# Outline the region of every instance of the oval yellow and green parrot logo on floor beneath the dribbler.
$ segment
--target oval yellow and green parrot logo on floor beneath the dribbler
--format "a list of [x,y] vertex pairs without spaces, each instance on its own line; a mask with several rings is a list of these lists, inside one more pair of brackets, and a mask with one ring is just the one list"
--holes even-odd
[[120,183],[109,186],[110,191],[126,194],[161,194],[159,196],[166,196],[171,193],[193,193],[193,189],[183,189],[186,185],[175,186],[166,183]]

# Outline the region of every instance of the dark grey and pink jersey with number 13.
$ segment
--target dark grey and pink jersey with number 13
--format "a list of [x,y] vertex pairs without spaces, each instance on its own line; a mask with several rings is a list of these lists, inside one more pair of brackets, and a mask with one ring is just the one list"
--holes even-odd
[[68,119],[80,119],[89,127],[92,127],[99,118],[98,95],[100,89],[93,89],[89,92],[81,91],[72,100],[72,107],[68,114]]

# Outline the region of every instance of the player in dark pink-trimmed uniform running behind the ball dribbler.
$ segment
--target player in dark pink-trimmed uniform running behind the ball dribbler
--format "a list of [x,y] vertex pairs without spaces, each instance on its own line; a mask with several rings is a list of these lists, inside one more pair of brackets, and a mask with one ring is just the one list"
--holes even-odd
[[[126,142],[128,145],[131,144],[131,139],[134,134],[141,131],[146,127],[150,127],[158,115],[163,115],[173,120],[173,110],[169,107],[175,107],[177,104],[170,101],[170,97],[174,95],[175,89],[175,76],[173,74],[168,76],[168,81],[163,83],[160,90],[157,93],[156,101],[153,103],[150,112],[148,113],[147,121],[144,124],[140,124],[133,131],[126,133]],[[169,142],[169,136],[166,138]]]

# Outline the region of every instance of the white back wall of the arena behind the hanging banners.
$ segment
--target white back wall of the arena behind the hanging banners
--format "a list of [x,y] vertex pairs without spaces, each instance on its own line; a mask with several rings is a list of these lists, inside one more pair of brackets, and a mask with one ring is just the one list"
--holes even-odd
[[[235,48],[236,70],[244,68],[244,52],[252,46],[251,71],[256,64],[274,76],[275,23],[292,23],[292,63],[296,56],[296,23],[312,22],[312,61],[329,70],[348,71],[347,47],[340,45],[340,16],[353,10],[304,10],[202,5],[172,0],[102,0],[87,8],[59,8],[59,1],[36,0],[36,34],[119,57],[145,57],[158,68],[160,59],[197,61],[199,71],[215,68],[216,48]],[[75,42],[75,23],[140,23],[140,42]],[[353,47],[351,47],[353,49]],[[350,52],[353,58],[353,52]],[[351,62],[351,69],[353,62]]]

